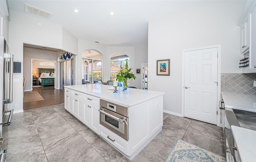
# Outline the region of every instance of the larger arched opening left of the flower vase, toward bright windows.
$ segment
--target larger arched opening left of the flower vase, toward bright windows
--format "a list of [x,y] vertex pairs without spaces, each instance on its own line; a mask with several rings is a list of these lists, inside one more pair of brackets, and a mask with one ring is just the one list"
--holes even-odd
[[82,80],[98,83],[102,80],[102,55],[96,50],[82,52]]

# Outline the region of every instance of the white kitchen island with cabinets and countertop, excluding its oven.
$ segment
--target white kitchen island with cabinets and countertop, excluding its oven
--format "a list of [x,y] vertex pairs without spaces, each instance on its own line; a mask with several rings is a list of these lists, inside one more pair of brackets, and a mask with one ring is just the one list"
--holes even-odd
[[[118,87],[113,93],[108,89],[112,86],[104,84],[64,87],[65,109],[129,160],[162,130],[164,92],[128,88],[123,94]],[[100,124],[100,100],[128,108],[128,140]]]

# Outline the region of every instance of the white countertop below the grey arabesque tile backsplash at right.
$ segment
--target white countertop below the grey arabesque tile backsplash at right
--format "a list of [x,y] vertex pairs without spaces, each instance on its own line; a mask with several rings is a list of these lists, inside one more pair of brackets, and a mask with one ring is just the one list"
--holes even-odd
[[256,95],[221,92],[226,108],[256,112]]

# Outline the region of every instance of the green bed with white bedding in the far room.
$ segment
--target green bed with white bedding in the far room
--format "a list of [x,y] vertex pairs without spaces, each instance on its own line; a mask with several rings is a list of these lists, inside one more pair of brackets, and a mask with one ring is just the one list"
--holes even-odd
[[[39,75],[41,75],[42,72],[52,74],[54,73],[54,69],[38,68]],[[38,81],[39,81],[39,84],[41,84],[41,86],[54,86],[54,79],[55,77],[52,77],[52,76],[40,77]]]

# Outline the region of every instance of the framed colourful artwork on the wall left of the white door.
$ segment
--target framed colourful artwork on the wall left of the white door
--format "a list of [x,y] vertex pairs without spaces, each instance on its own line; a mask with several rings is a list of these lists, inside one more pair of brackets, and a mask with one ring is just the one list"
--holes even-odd
[[170,59],[156,60],[156,75],[170,76]]

